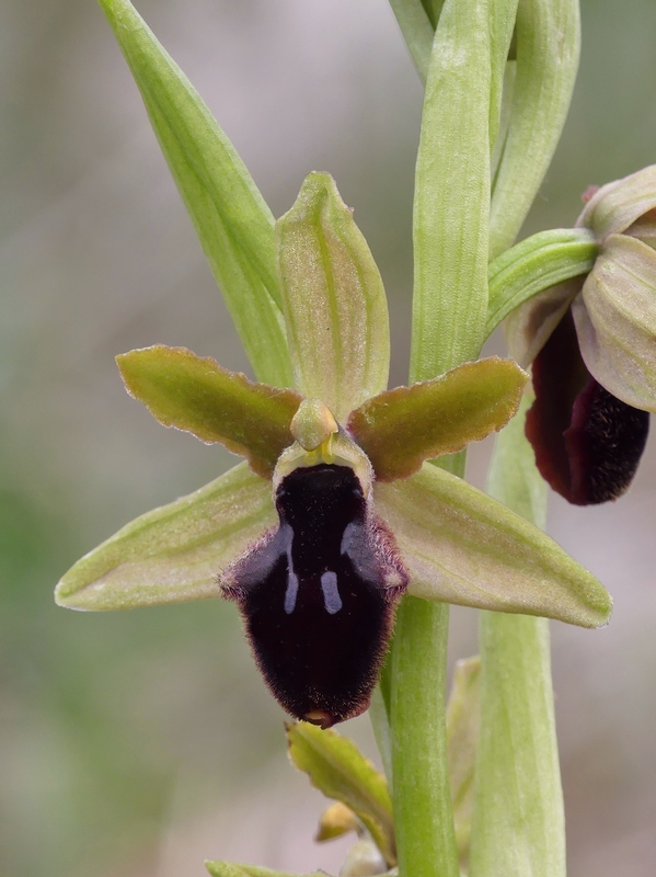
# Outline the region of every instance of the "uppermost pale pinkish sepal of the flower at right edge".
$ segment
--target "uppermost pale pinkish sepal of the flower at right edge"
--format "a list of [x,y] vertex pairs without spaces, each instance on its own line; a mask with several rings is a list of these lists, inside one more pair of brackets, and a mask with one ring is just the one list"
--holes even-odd
[[601,186],[576,220],[591,228],[599,241],[619,235],[656,207],[656,164]]

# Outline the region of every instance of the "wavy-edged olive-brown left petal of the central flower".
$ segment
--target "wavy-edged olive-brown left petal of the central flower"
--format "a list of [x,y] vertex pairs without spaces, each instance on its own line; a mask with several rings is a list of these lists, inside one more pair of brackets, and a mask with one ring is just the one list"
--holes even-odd
[[160,423],[207,444],[220,442],[264,478],[294,442],[290,425],[301,401],[295,390],[253,384],[185,348],[158,344],[123,353],[116,362],[127,391]]

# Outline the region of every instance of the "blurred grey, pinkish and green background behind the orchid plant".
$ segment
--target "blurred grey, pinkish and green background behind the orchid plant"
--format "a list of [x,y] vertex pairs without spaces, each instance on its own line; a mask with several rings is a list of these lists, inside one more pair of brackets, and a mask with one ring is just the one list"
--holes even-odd
[[[275,215],[327,170],[379,260],[405,383],[422,91],[383,0],[141,0]],[[116,353],[162,342],[248,371],[145,111],[92,0],[4,0],[0,29],[0,873],[202,877],[203,859],[336,872],[323,801],[233,605],[55,607],[59,576],[232,458],[123,390]],[[584,0],[580,76],[525,234],[571,226],[590,183],[656,160],[656,5]],[[471,456],[482,485],[490,446]],[[550,531],[615,597],[552,625],[571,877],[656,858],[656,453],[631,493]],[[452,658],[476,651],[453,612]],[[375,758],[368,721],[344,728]]]

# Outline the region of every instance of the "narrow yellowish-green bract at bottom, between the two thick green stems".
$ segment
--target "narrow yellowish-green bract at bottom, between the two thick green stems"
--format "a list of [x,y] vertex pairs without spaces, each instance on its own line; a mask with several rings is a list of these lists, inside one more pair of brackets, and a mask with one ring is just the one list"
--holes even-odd
[[460,868],[467,872],[479,744],[481,659],[458,661],[447,704],[447,759]]

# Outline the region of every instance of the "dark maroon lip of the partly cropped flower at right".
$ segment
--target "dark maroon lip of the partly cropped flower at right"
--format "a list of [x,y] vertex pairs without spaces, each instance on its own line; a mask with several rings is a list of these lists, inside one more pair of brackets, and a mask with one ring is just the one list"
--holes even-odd
[[649,414],[622,402],[585,367],[567,312],[533,363],[526,434],[540,474],[575,505],[607,502],[631,485]]

